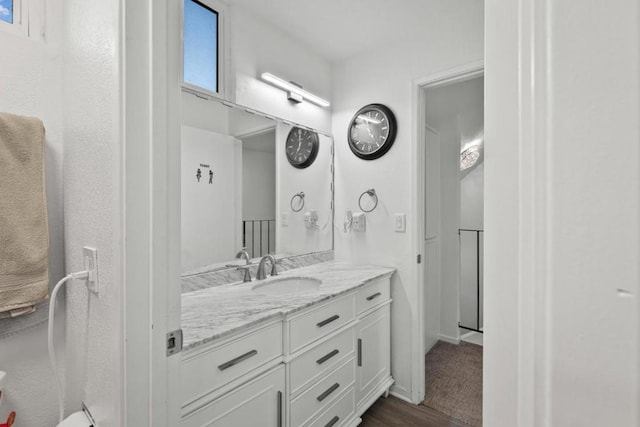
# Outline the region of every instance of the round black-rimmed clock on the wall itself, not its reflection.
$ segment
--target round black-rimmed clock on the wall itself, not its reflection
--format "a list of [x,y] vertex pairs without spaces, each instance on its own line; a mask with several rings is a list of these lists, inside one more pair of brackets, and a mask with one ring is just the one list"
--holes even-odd
[[397,130],[396,117],[387,106],[366,105],[358,110],[349,123],[349,147],[361,159],[377,159],[389,151]]

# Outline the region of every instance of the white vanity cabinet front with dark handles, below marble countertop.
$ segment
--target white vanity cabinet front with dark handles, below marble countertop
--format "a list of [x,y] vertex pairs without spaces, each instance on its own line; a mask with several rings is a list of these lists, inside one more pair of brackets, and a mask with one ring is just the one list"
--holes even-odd
[[390,276],[182,354],[183,427],[355,427],[388,392]]

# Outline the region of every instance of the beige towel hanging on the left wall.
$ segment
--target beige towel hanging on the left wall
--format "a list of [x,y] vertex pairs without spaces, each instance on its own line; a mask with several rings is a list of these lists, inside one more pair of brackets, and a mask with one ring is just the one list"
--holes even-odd
[[0,318],[33,311],[49,294],[44,126],[0,113]]

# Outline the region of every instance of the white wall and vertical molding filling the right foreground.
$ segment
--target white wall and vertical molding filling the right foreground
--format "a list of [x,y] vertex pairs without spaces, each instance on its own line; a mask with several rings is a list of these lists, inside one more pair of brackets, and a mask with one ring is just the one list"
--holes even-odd
[[636,426],[640,6],[486,3],[484,423]]

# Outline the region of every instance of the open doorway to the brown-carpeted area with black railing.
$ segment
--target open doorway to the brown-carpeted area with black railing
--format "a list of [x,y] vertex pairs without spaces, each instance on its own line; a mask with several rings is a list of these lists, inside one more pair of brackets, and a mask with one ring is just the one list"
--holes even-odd
[[425,406],[482,423],[484,75],[418,84]]

